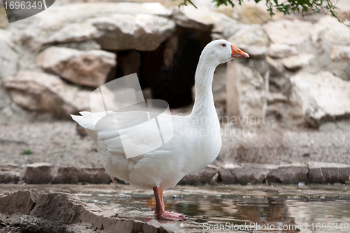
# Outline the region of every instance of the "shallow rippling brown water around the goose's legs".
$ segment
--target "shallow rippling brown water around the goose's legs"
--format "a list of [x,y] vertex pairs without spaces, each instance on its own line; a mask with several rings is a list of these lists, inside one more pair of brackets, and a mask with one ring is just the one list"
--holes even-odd
[[[0,185],[0,193],[29,188],[74,193],[120,218],[155,218],[152,190],[132,185]],[[177,185],[164,198],[167,211],[188,216],[176,222],[185,232],[350,233],[350,185]]]

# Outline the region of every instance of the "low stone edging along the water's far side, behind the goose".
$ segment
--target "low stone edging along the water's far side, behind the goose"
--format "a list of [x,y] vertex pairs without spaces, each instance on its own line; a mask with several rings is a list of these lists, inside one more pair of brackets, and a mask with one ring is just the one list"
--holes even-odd
[[[29,164],[24,176],[20,176],[18,164],[0,165],[0,183],[28,184],[74,184],[74,183],[111,183],[120,182],[111,178],[103,167],[59,167],[52,171],[48,163]],[[309,162],[304,164],[225,164],[223,167],[208,167],[188,174],[180,185],[205,185],[214,183],[259,184],[259,183],[344,183],[350,184],[350,166],[327,162]]]

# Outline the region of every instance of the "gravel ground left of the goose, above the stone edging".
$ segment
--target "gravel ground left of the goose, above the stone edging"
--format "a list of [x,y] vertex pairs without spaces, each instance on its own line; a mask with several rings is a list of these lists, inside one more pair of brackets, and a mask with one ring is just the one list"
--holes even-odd
[[[25,150],[32,153],[22,155]],[[54,167],[102,167],[94,142],[89,136],[81,139],[74,122],[0,125],[0,163],[24,167],[34,162]]]

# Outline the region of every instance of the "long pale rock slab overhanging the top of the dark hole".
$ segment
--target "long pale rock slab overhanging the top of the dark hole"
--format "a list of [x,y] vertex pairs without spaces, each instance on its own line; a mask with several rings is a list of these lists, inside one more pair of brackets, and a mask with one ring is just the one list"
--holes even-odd
[[104,50],[153,50],[145,47],[165,41],[176,27],[168,18],[172,10],[160,3],[75,3],[53,5],[49,11],[34,15],[25,27],[10,24],[9,29],[18,31],[20,39],[36,51],[57,41],[88,39],[95,39]]

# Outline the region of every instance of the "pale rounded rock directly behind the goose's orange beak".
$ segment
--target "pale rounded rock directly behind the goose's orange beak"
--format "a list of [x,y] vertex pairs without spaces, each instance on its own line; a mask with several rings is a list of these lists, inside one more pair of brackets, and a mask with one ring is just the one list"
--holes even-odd
[[228,38],[228,41],[244,52],[248,52],[249,56],[253,58],[265,57],[269,43],[264,29],[259,24],[241,27]]

